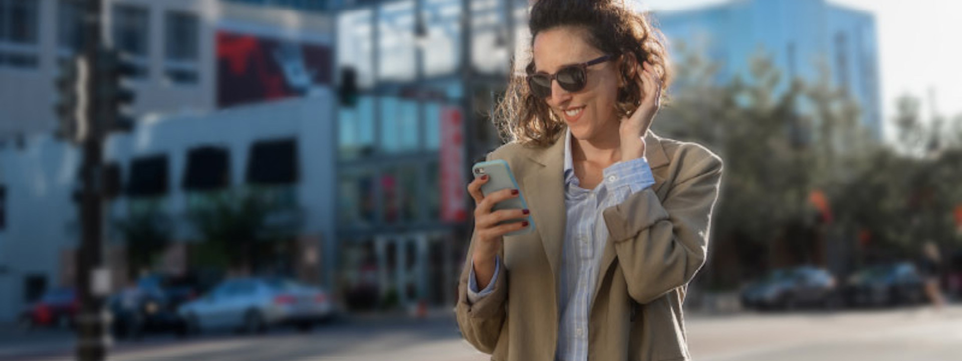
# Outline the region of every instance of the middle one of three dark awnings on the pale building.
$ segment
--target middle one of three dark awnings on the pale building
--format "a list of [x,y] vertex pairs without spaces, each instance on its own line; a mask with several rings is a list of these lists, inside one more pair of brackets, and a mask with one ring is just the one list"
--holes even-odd
[[201,146],[190,149],[187,171],[181,186],[189,191],[212,191],[231,184],[230,153],[227,148]]

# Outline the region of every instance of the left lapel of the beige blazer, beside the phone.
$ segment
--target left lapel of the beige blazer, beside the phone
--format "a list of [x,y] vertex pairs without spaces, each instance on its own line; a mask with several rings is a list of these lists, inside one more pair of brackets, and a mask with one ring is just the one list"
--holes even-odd
[[532,151],[528,158],[543,168],[524,175],[525,194],[535,231],[541,236],[551,274],[558,279],[561,247],[565,242],[565,137],[551,146]]

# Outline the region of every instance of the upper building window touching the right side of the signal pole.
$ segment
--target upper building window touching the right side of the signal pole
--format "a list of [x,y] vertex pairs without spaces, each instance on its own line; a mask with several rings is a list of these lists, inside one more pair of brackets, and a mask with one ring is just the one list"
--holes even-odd
[[114,6],[114,46],[130,56],[137,78],[147,76],[150,16],[147,9],[128,5]]

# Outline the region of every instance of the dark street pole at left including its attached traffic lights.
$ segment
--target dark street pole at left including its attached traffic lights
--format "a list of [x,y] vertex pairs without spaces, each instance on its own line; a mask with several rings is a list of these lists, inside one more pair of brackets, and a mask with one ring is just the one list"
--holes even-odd
[[125,108],[134,92],[122,85],[136,67],[105,47],[101,39],[103,0],[83,1],[80,13],[84,44],[80,53],[61,64],[56,81],[59,119],[55,135],[82,147],[80,169],[81,240],[76,254],[76,285],[80,297],[77,324],[77,360],[102,361],[110,347],[110,315],[105,298],[111,292],[111,271],[105,262],[104,200],[116,195],[119,173],[103,165],[103,146],[113,131],[129,131],[134,120]]

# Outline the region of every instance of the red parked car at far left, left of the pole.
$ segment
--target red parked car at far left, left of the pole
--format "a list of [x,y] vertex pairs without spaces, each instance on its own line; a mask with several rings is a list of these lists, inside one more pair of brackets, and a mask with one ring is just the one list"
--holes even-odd
[[47,291],[40,299],[27,306],[18,318],[25,328],[72,327],[80,311],[80,299],[72,288],[56,288]]

